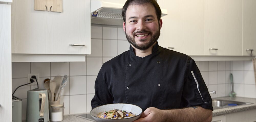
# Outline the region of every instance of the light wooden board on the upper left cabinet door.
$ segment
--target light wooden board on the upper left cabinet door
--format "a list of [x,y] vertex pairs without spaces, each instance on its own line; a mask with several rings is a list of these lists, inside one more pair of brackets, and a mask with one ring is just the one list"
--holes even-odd
[[62,0],[35,0],[34,9],[62,12]]

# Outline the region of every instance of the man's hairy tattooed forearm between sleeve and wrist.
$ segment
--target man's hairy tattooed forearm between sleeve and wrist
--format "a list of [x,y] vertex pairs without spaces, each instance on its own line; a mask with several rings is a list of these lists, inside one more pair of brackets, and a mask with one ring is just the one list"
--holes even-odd
[[212,119],[212,111],[199,106],[164,110],[165,121],[180,121],[180,122],[210,122]]

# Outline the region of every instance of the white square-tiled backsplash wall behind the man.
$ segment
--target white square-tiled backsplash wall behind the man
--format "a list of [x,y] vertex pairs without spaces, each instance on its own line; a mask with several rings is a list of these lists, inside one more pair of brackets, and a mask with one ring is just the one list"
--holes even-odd
[[[129,50],[122,27],[91,26],[91,55],[85,62],[31,62],[12,63],[12,92],[27,83],[27,74],[39,73],[39,88],[44,89],[44,80],[68,75],[68,84],[61,94],[64,114],[88,113],[94,96],[94,82],[101,65],[111,58]],[[229,74],[234,76],[234,91],[237,96],[256,98],[253,66],[251,61],[196,62],[209,91],[216,90],[212,97],[227,96],[231,90]],[[22,99],[22,119],[26,118],[27,91],[36,86],[20,87],[14,95]]]

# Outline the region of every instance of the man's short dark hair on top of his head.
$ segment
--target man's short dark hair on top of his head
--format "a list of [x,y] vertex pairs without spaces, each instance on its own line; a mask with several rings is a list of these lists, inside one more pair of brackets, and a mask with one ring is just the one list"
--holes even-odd
[[141,5],[146,3],[151,3],[154,6],[154,8],[156,9],[156,16],[159,22],[162,16],[162,11],[159,5],[157,4],[156,0],[127,0],[122,9],[122,16],[123,16],[124,22],[126,22],[126,10],[130,5]]

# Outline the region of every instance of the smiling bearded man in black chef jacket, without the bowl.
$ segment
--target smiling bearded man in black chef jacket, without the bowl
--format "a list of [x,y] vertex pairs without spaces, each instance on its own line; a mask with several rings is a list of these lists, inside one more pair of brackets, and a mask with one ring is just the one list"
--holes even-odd
[[143,121],[211,121],[212,101],[195,61],[158,45],[163,21],[155,0],[127,0],[122,15],[130,50],[104,63],[92,108],[140,106]]

